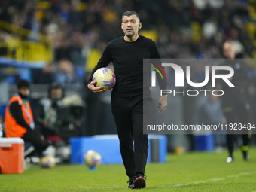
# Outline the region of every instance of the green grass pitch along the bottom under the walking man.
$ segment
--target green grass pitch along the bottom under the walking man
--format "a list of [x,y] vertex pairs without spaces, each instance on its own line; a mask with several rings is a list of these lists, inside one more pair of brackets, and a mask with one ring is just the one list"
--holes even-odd
[[[144,191],[256,191],[256,148],[251,159],[226,163],[227,152],[169,154],[167,163],[149,163]],[[84,165],[31,166],[20,175],[0,175],[0,191],[128,191],[123,165],[102,165],[87,171]],[[141,190],[139,190],[141,191]]]

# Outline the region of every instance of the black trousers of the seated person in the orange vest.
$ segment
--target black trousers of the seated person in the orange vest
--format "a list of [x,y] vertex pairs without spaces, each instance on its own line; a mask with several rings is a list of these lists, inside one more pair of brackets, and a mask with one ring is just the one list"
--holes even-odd
[[47,140],[42,140],[40,133],[38,133],[35,130],[29,130],[27,131],[23,136],[22,139],[24,142],[30,142],[34,148],[35,152],[38,154],[38,156],[41,156],[41,153],[50,145]]

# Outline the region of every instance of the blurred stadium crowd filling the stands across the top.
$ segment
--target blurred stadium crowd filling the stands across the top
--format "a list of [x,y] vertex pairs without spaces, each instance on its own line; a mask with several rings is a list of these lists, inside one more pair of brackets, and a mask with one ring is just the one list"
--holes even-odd
[[52,38],[55,62],[69,59],[75,66],[83,65],[93,48],[102,51],[122,35],[120,15],[125,10],[139,13],[142,34],[157,41],[163,58],[221,58],[227,40],[252,57],[254,4],[243,0],[4,0],[0,20]]

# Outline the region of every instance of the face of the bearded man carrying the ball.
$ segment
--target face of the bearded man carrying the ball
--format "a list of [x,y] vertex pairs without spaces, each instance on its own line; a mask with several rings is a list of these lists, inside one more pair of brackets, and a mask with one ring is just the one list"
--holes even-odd
[[123,16],[123,22],[121,25],[123,33],[128,37],[133,37],[137,34],[139,29],[142,28],[142,23],[139,22],[138,17],[135,14],[130,16]]

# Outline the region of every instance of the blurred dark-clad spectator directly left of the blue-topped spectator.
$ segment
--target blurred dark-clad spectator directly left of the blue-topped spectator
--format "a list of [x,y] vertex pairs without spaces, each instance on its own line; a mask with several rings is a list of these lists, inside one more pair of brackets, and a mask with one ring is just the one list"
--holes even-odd
[[53,81],[54,70],[51,63],[46,63],[44,68],[34,75],[34,84],[51,84]]

